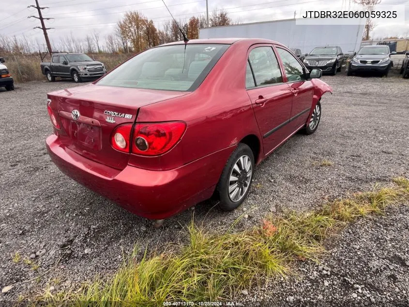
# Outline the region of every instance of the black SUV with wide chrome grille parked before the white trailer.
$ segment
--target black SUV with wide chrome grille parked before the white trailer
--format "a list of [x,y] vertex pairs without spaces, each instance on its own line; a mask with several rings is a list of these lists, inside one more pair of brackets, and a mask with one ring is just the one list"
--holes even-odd
[[344,64],[344,53],[341,47],[316,47],[303,60],[308,69],[319,68],[323,73],[336,75]]

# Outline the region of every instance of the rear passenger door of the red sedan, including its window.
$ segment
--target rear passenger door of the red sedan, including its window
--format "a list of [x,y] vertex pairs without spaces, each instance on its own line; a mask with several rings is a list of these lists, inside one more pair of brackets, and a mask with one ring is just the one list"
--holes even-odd
[[246,88],[268,154],[290,134],[288,128],[292,93],[284,83],[272,45],[250,48],[247,58]]

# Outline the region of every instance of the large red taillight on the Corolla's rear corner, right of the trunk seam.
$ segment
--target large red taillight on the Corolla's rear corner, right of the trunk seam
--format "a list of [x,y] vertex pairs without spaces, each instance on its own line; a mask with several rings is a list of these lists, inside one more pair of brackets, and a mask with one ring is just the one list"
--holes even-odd
[[163,154],[179,142],[185,129],[184,122],[136,123],[132,153],[144,156]]

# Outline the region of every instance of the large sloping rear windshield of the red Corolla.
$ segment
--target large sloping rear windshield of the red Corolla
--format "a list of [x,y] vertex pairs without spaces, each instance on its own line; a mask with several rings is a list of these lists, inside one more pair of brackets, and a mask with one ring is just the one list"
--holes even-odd
[[194,91],[229,45],[183,44],[146,50],[98,81],[97,85]]

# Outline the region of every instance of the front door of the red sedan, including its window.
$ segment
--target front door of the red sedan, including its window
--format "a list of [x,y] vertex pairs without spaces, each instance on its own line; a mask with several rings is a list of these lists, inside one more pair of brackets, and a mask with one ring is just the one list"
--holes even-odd
[[314,86],[306,80],[303,65],[291,52],[282,46],[275,46],[281,59],[288,86],[292,93],[290,126],[293,130],[303,126],[311,110]]

